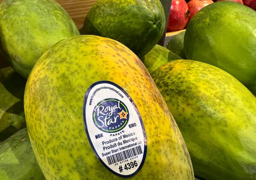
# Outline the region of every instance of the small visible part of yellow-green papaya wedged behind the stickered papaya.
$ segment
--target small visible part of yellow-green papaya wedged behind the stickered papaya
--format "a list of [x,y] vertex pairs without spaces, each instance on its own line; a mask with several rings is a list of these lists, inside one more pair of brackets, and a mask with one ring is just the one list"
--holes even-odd
[[182,58],[160,45],[155,45],[151,51],[149,51],[143,58],[141,58],[149,73],[152,73],[155,69],[161,65],[164,65],[166,62],[175,59]]

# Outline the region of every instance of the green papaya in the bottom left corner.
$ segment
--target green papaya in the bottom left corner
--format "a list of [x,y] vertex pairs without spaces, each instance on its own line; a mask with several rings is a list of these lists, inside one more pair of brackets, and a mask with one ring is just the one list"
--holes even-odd
[[0,180],[45,180],[26,128],[0,143]]

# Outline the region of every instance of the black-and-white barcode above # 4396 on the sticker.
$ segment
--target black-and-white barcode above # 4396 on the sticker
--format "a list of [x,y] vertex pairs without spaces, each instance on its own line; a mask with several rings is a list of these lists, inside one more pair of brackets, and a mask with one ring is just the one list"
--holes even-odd
[[133,147],[131,149],[127,149],[122,152],[118,152],[114,155],[107,156],[108,165],[111,165],[113,163],[118,163],[121,160],[126,160],[128,158],[132,158],[134,156],[142,154],[142,149],[140,146]]

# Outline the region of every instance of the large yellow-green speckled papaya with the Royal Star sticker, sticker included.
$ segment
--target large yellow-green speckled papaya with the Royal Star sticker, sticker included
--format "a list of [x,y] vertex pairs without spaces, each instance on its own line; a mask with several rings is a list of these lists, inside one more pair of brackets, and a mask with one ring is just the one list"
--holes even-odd
[[47,179],[194,179],[150,74],[113,39],[81,35],[55,44],[28,78],[24,109]]

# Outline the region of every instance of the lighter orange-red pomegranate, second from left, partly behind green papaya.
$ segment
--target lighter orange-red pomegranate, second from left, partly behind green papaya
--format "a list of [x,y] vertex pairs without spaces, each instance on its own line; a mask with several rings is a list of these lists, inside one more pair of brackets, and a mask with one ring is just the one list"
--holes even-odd
[[212,0],[191,0],[188,2],[188,8],[190,11],[189,20],[201,9],[205,6],[212,4]]

